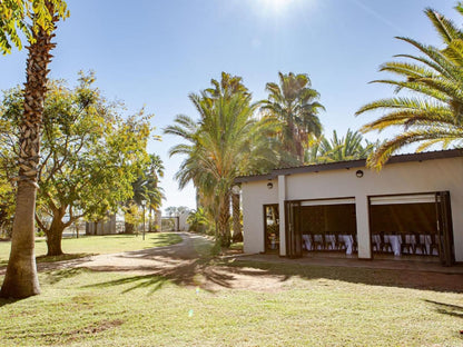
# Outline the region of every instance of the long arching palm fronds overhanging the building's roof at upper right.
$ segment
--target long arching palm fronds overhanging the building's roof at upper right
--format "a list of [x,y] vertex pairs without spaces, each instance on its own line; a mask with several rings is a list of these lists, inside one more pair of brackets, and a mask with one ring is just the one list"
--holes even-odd
[[[455,8],[463,14],[463,4]],[[439,12],[426,9],[426,16],[441,36],[444,49],[398,38],[421,54],[398,54],[406,61],[386,62],[381,71],[402,79],[376,80],[394,86],[395,91],[411,91],[405,97],[381,99],[363,106],[356,115],[382,110],[385,113],[366,123],[363,132],[402,128],[401,133],[385,141],[368,158],[368,165],[381,169],[391,155],[408,143],[417,142],[416,151],[441,143],[463,145],[463,31]]]

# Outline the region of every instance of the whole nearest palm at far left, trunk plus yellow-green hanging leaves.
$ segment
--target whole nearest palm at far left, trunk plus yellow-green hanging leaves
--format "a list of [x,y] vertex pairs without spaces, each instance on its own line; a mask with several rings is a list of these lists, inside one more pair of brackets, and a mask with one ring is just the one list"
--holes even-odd
[[[4,0],[0,2],[0,49],[21,48],[20,32],[28,42],[24,108],[19,136],[19,175],[10,259],[0,295],[24,298],[40,293],[35,257],[35,210],[43,100],[53,30],[69,13],[62,0]],[[18,32],[18,30],[19,32]]]

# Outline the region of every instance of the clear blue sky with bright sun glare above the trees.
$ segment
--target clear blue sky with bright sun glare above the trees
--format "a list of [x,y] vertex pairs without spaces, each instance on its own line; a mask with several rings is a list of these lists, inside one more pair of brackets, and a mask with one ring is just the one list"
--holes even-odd
[[[358,129],[364,103],[388,97],[378,66],[396,53],[414,52],[394,37],[439,44],[423,9],[454,18],[452,0],[69,0],[71,17],[59,23],[51,78],[75,85],[79,70],[95,70],[109,100],[128,112],[146,107],[157,133],[178,113],[196,117],[188,93],[209,87],[221,71],[242,76],[255,100],[277,72],[308,73],[326,112],[325,133]],[[26,50],[0,58],[0,89],[24,81]],[[370,135],[372,139],[376,135]],[[181,158],[169,158],[171,136],[149,151],[166,166],[168,206],[195,207],[193,187],[177,190]]]

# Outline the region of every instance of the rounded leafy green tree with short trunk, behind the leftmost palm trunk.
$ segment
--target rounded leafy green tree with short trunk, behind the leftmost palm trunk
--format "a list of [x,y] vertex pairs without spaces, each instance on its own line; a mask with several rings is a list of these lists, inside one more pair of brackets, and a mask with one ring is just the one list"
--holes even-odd
[[[47,235],[49,256],[62,254],[62,231],[79,218],[98,220],[108,210],[116,211],[132,195],[131,182],[148,159],[149,117],[117,116],[117,107],[92,88],[93,81],[92,75],[81,75],[75,89],[60,81],[48,87],[36,221]],[[21,99],[17,88],[2,102],[2,121],[10,121],[13,129],[20,121]],[[13,136],[8,133],[19,156]]]

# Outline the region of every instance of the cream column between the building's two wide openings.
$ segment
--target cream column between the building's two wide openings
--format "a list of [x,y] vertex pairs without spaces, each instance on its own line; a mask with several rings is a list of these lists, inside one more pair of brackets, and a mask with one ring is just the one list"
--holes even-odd
[[370,241],[368,199],[366,196],[355,197],[355,212],[357,217],[358,258],[371,259],[372,245]]

